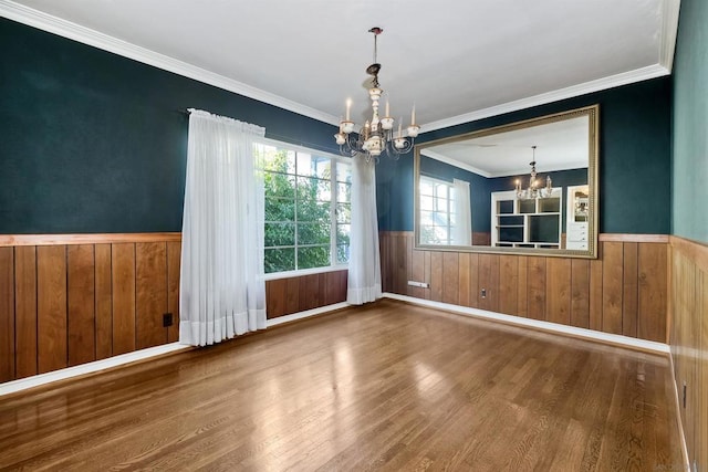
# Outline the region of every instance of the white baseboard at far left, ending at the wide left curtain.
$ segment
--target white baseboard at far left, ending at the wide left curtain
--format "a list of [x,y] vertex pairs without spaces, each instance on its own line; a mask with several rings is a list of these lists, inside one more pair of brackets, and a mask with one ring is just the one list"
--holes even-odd
[[0,384],[0,397],[8,394],[25,390],[28,388],[39,387],[58,380],[65,380],[72,377],[79,377],[86,374],[97,373],[111,367],[122,366],[124,364],[135,363],[136,360],[148,359],[164,354],[175,353],[177,350],[189,349],[179,343],[164,344],[162,346],[148,347],[147,349],[135,350],[133,353],[121,354],[118,356],[108,357],[107,359],[95,360],[93,363],[82,364],[80,366],[66,367],[61,370],[53,370],[46,374],[40,374],[32,377],[21,378],[18,380]]

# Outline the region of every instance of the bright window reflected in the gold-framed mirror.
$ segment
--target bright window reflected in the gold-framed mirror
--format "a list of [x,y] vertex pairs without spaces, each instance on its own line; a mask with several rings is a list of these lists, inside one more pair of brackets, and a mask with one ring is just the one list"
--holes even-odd
[[420,176],[420,243],[452,244],[455,187],[445,180]]

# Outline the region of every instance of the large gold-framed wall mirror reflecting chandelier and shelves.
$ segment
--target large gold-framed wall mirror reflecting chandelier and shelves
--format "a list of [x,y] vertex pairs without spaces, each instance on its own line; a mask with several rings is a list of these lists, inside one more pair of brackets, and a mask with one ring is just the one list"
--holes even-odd
[[596,258],[598,113],[416,145],[416,249]]

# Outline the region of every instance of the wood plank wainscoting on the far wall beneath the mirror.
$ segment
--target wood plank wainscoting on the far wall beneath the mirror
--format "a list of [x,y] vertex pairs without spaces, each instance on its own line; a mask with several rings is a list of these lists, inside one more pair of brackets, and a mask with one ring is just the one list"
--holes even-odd
[[667,235],[602,234],[596,260],[419,251],[407,231],[381,252],[386,292],[667,342]]

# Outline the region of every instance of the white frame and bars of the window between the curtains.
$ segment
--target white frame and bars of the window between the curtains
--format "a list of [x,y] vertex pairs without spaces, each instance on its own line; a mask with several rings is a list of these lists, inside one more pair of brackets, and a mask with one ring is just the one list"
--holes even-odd
[[[337,183],[339,180],[336,179],[337,177],[337,172],[336,172],[336,166],[337,164],[344,164],[346,166],[350,166],[350,168],[352,168],[353,162],[352,162],[352,158],[351,157],[346,157],[346,156],[340,156],[340,155],[335,155],[329,151],[322,151],[322,150],[317,150],[317,149],[313,149],[313,148],[308,148],[304,146],[298,146],[298,145],[293,145],[290,143],[284,143],[284,141],[279,141],[277,139],[271,139],[271,138],[260,138],[260,139],[256,139],[254,140],[256,145],[262,144],[266,146],[273,146],[277,147],[278,149],[284,149],[288,151],[294,151],[295,156],[298,153],[302,153],[302,154],[308,154],[314,157],[326,157],[330,159],[330,161],[333,164],[333,166],[331,167],[331,172],[330,172],[330,188],[331,188],[331,193],[332,193],[332,198],[330,199],[330,265],[325,265],[325,266],[321,266],[321,268],[309,268],[309,269],[295,269],[292,271],[281,271],[281,272],[267,272],[264,273],[264,280],[269,281],[269,280],[278,280],[278,279],[288,279],[288,277],[293,277],[293,276],[302,276],[302,275],[312,275],[312,274],[320,274],[320,273],[326,273],[326,272],[336,272],[336,271],[345,271],[348,270],[348,261],[346,263],[339,263],[337,262],[337,217],[336,217],[336,208],[339,203],[343,203],[340,202],[337,200]],[[296,157],[295,157],[296,158]],[[300,176],[298,174],[293,174],[292,176],[295,177],[295,179],[298,179],[299,177],[304,177],[304,176]],[[350,183],[350,188],[351,188],[351,183]],[[351,195],[351,192],[350,192]],[[266,196],[263,195],[263,198],[266,198]],[[345,202],[350,204],[350,209],[351,209],[351,200],[348,202]],[[351,214],[351,213],[350,213]],[[295,216],[294,216],[294,220],[292,221],[292,223],[295,225],[298,225],[298,214],[296,214],[296,209],[295,209]],[[351,220],[350,220],[350,228],[351,228]],[[264,228],[263,228],[264,230]],[[295,230],[296,231],[296,230]],[[296,232],[295,232],[295,241],[294,241],[294,245],[292,245],[292,248],[295,250],[295,258],[296,258],[296,252],[298,252],[298,248],[306,248],[306,247],[311,247],[311,244],[303,244],[303,245],[299,245],[298,244],[298,240],[296,240]],[[263,241],[263,249],[266,250],[266,241]],[[315,247],[321,247],[321,244],[314,244]],[[268,247],[268,248],[282,248],[282,247]],[[290,245],[288,245],[287,248],[291,248]],[[263,251],[263,258],[264,258],[264,251]],[[296,261],[296,259],[295,259]]]

